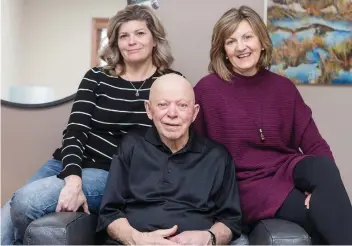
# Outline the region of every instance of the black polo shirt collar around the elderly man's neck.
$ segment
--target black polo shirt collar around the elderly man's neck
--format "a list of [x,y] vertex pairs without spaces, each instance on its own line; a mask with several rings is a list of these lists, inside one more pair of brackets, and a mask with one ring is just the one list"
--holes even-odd
[[[196,135],[196,133],[194,132],[192,127],[190,127],[190,129],[189,129],[189,136],[190,137],[189,137],[188,142],[185,145],[185,147],[178,152],[179,153],[180,152],[188,152],[188,151],[195,152],[195,153],[202,152],[202,146],[200,144],[200,141],[198,141],[198,136]],[[163,147],[163,148],[169,150],[169,148],[161,141],[159,133],[158,133],[155,125],[153,125],[151,128],[148,129],[144,138],[146,141],[148,141],[149,143],[151,143],[155,146]]]

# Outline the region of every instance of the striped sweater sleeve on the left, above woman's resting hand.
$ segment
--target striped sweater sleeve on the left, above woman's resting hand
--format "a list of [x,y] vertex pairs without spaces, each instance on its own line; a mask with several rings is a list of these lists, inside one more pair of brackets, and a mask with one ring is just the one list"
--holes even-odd
[[73,102],[61,148],[62,171],[58,178],[82,176],[82,158],[91,129],[92,112],[96,106],[97,74],[89,70],[83,77]]

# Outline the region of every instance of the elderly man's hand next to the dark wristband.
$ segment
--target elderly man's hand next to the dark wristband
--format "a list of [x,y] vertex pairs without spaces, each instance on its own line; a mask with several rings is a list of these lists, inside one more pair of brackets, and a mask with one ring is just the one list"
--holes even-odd
[[169,239],[182,245],[211,245],[211,235],[207,231],[184,231]]

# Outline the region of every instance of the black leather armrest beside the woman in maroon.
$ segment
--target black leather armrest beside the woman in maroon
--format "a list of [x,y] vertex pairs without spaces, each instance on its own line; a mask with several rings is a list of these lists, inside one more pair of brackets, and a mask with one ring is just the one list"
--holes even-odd
[[287,220],[267,219],[260,221],[249,235],[250,244],[256,245],[310,245],[307,232]]

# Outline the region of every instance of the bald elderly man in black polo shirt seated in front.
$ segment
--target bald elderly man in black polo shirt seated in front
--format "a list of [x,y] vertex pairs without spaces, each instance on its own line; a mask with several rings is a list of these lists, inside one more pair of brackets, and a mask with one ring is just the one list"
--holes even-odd
[[145,102],[154,126],[127,135],[115,156],[98,232],[106,244],[228,244],[240,236],[241,210],[229,152],[195,135],[199,105],[182,76],[163,75]]

